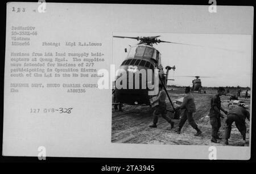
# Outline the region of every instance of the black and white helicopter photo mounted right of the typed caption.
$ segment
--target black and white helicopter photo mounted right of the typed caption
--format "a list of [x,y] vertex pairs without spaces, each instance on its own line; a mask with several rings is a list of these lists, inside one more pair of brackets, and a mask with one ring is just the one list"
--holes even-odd
[[249,146],[251,35],[120,32],[113,52],[113,143]]

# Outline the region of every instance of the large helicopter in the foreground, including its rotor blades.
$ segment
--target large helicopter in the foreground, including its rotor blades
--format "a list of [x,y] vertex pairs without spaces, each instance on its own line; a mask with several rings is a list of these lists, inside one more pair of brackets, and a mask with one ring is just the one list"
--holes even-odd
[[[154,77],[154,70],[159,71],[159,83],[162,84],[164,87],[164,90],[166,91],[166,94],[168,96],[168,99],[172,105],[172,108],[175,111],[174,105],[172,104],[172,101],[170,99],[170,96],[168,95],[168,92],[166,90],[166,85],[168,80],[174,80],[174,79],[168,79],[168,73],[171,69],[175,70],[175,66],[166,66],[166,73],[164,73],[164,69],[161,63],[161,54],[159,50],[155,49],[153,44],[159,44],[159,43],[171,43],[171,44],[181,44],[181,43],[173,43],[170,41],[162,41],[158,39],[160,36],[151,36],[151,37],[125,37],[125,36],[113,36],[117,38],[128,38],[128,39],[136,39],[139,41],[137,45],[131,46],[130,50],[127,54],[126,59],[122,62],[119,69],[129,72],[138,72],[142,69],[152,70],[152,77]],[[189,45],[189,44],[184,44]],[[127,49],[125,49],[125,52],[127,52]],[[116,80],[120,76],[116,77]],[[135,76],[136,78],[136,76]],[[133,82],[136,80],[134,78]],[[113,90],[113,94],[115,96],[115,104],[129,104],[129,105],[137,105],[137,104],[143,104],[143,105],[150,105],[150,99],[154,97],[154,95],[148,95],[148,91],[150,90],[147,86],[146,89],[141,88],[142,86],[142,79],[140,76],[139,78],[139,88],[137,89],[130,89],[130,88],[121,88],[118,89],[115,87]],[[138,80],[138,79],[137,79]],[[147,79],[147,84],[148,84]],[[127,80],[128,81],[128,80]],[[152,79],[154,81],[154,79]],[[117,82],[117,81],[116,81]],[[154,82],[152,82],[154,83]],[[127,84],[129,86],[129,84]]]

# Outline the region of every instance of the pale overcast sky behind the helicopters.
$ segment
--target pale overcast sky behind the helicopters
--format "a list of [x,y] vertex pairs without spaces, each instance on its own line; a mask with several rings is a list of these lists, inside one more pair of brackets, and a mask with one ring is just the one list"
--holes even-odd
[[[168,84],[192,85],[193,78],[179,76],[208,76],[200,78],[202,86],[241,86],[251,84],[251,35],[217,35],[184,33],[133,33],[115,32],[114,36],[158,36],[163,41],[202,45],[160,43],[154,45],[162,54],[163,67],[176,66],[170,71]],[[117,68],[125,60],[129,45],[138,43],[133,39],[113,38],[113,64]]]

